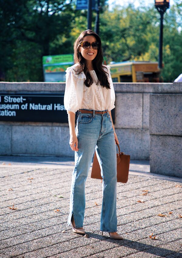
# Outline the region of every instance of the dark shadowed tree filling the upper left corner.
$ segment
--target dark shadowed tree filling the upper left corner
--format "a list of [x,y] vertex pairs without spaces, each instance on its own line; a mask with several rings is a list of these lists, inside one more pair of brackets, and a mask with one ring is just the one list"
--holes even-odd
[[[27,63],[27,69],[32,68],[32,71],[29,70],[28,73],[22,71],[22,74],[29,74],[28,77],[31,80],[33,67],[29,67],[30,60],[34,59],[34,62],[35,60],[37,62],[38,58],[40,66],[42,56],[51,53],[51,43],[58,39],[59,35],[65,37],[69,35],[73,17],[72,0],[69,2],[1,0],[0,3],[0,22],[3,31],[0,51],[1,60],[3,60],[0,64],[2,73],[5,74],[6,80],[8,78],[21,80],[19,76],[13,77],[13,74],[17,73],[17,69],[19,70],[24,61]],[[20,63],[17,64],[19,61]],[[10,72],[11,69],[12,72]],[[25,76],[26,79],[28,77]],[[37,79],[42,79],[42,75]]]

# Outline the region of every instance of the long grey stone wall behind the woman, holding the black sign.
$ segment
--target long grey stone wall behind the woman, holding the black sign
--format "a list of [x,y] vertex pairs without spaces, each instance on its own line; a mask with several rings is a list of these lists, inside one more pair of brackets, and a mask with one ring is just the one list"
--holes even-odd
[[[120,149],[131,159],[150,158],[149,95],[172,83],[114,83],[115,128]],[[0,83],[0,93],[64,93],[65,83]],[[0,121],[1,155],[73,157],[66,123]]]

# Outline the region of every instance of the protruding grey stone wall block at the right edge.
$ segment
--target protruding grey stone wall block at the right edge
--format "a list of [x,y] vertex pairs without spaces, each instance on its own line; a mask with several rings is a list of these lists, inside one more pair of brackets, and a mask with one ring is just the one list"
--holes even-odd
[[182,83],[150,94],[150,172],[182,177]]

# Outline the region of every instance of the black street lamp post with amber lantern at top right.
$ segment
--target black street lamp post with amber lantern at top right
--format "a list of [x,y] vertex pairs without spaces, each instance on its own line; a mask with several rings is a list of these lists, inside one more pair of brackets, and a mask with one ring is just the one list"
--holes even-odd
[[169,8],[169,0],[155,0],[155,8],[160,13],[160,36],[159,36],[159,68],[162,68],[162,43],[163,43],[163,15]]

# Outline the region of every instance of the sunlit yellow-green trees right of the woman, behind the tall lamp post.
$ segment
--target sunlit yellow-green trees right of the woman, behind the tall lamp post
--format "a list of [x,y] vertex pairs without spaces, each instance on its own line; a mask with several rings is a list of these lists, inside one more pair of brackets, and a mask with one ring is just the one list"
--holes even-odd
[[[182,71],[182,33],[177,5],[164,15],[161,77],[172,82]],[[109,61],[158,61],[160,15],[154,7],[116,6],[101,15],[101,38]]]

